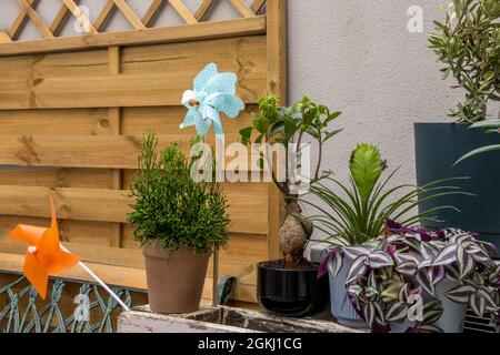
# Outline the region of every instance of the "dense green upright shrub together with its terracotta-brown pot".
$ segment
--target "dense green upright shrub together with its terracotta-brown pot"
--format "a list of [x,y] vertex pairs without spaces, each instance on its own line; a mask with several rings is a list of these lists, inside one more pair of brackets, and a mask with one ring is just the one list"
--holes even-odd
[[158,152],[156,135],[144,136],[128,222],[143,247],[153,312],[198,311],[211,251],[228,241],[226,196],[217,182],[191,179],[196,163],[178,144]]

